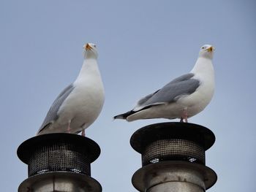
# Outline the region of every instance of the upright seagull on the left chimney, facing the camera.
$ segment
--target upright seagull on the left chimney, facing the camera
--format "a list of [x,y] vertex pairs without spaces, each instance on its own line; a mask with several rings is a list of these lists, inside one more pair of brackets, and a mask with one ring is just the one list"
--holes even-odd
[[83,66],[77,79],[53,101],[37,135],[82,131],[85,136],[84,130],[97,119],[105,100],[97,57],[96,45],[83,46]]

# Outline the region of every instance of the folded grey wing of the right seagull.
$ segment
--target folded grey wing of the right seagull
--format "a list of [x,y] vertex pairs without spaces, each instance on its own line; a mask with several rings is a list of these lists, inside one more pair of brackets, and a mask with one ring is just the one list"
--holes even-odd
[[200,82],[199,80],[192,79],[193,76],[194,74],[191,73],[184,74],[172,80],[144,102],[143,108],[156,104],[171,103],[181,96],[194,93],[199,87]]

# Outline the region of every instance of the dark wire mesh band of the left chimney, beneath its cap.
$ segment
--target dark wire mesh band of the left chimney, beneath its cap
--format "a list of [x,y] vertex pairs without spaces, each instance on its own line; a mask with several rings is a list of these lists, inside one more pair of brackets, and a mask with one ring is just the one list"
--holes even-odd
[[89,157],[85,146],[69,142],[48,143],[34,146],[28,165],[29,177],[45,172],[77,172],[91,176]]

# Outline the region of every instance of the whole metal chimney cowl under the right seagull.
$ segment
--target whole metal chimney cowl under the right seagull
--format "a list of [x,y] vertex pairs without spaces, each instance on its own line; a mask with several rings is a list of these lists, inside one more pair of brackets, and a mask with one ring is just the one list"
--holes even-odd
[[203,192],[217,182],[206,166],[205,151],[215,142],[206,127],[193,123],[156,123],[132,135],[130,144],[141,154],[142,168],[132,185],[143,192]]

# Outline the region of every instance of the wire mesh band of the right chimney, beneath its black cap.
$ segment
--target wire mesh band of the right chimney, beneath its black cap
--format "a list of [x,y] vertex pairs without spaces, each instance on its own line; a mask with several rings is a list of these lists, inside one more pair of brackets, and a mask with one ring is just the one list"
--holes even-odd
[[205,150],[187,139],[160,139],[149,144],[142,153],[142,164],[159,161],[189,161],[205,164]]

